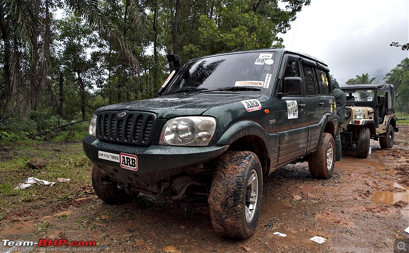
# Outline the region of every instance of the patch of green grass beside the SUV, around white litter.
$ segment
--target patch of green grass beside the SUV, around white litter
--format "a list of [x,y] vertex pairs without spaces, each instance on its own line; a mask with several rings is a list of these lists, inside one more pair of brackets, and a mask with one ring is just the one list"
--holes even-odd
[[[33,169],[27,162],[34,158],[47,161],[46,167]],[[90,188],[92,163],[85,156],[82,142],[34,142],[9,143],[0,146],[0,213],[7,215],[14,210],[41,200],[41,205],[66,201],[86,196],[84,189]],[[31,186],[14,190],[19,183],[34,177],[56,182],[58,178],[71,179],[54,186]]]

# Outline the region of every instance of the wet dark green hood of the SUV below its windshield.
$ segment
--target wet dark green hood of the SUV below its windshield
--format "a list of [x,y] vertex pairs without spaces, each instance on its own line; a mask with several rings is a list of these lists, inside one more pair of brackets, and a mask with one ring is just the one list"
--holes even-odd
[[173,94],[101,107],[96,111],[96,114],[102,111],[124,110],[152,112],[158,118],[171,118],[178,115],[200,115],[212,107],[257,97],[260,97],[260,94]]

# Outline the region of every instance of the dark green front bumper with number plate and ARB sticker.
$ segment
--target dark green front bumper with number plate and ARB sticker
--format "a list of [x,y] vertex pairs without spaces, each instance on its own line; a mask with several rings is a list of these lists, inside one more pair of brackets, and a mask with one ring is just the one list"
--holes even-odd
[[[89,160],[107,177],[140,187],[155,184],[172,175],[211,161],[229,148],[229,145],[206,147],[151,145],[138,147],[105,142],[93,136],[86,136],[82,140],[82,144]],[[101,153],[105,155],[105,158]],[[135,157],[137,168],[126,169],[122,167],[119,159],[121,153],[125,154],[125,158]]]

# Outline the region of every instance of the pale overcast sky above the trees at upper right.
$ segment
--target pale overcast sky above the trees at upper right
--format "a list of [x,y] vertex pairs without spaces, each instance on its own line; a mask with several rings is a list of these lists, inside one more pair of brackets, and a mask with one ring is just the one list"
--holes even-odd
[[409,1],[311,0],[282,38],[287,49],[328,64],[339,84],[384,75],[409,55],[390,46],[409,42]]

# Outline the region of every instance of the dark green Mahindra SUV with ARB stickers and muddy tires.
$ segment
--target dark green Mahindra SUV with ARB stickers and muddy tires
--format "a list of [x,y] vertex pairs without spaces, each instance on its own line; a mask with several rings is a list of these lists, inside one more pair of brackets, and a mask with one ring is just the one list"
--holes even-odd
[[170,204],[206,198],[215,230],[247,238],[257,226],[263,176],[308,161],[334,169],[329,69],[284,49],[197,58],[175,67],[152,99],[102,107],[83,139],[100,199],[140,192]]

